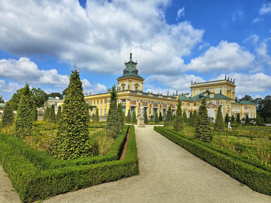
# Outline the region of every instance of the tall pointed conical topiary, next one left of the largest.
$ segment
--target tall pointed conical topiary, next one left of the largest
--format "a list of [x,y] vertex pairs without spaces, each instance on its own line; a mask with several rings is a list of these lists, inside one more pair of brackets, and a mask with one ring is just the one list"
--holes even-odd
[[13,130],[13,135],[15,137],[24,138],[31,135],[33,123],[33,119],[31,117],[32,106],[33,104],[31,101],[29,84],[25,83],[15,117]]

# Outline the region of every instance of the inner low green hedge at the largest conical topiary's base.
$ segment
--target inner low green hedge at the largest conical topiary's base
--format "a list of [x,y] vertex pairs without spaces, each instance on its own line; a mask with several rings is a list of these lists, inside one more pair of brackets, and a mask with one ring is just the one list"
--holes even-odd
[[121,150],[122,143],[128,132],[128,126],[124,126],[122,133],[114,140],[108,153],[102,156],[89,156],[86,158],[57,160],[43,151],[36,150],[27,143],[23,142],[12,135],[0,134],[0,142],[6,142],[13,149],[17,150],[20,155],[25,156],[31,163],[40,169],[54,169],[73,165],[88,165],[91,163],[101,163],[118,159],[118,153]]

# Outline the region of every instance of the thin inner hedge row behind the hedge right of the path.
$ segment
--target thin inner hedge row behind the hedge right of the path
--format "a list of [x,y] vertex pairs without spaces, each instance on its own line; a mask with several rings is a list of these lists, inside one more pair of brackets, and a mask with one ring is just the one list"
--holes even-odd
[[[198,139],[195,139],[193,137],[189,137],[189,136],[183,135],[182,133],[178,133],[178,132],[176,132],[174,130],[170,130],[170,129],[167,129],[167,128],[164,128],[164,127],[163,127],[163,129],[165,129],[165,130],[167,130],[169,132],[172,132],[175,135],[181,136],[181,137],[183,137],[185,139],[188,139],[188,140],[191,140],[193,142],[196,142],[196,143],[199,143],[201,145],[204,145],[205,147],[208,147],[208,148],[210,148],[212,150],[215,150],[215,151],[217,151],[219,153],[222,153],[222,154],[225,154],[227,156],[230,156],[230,157],[232,157],[234,159],[238,159],[238,160],[240,160],[242,162],[245,162],[245,163],[248,163],[250,165],[256,166],[257,168],[260,168],[260,169],[263,169],[265,171],[271,172],[271,168],[269,166],[262,165],[262,164],[260,164],[259,162],[255,161],[253,159],[248,159],[248,158],[246,158],[246,157],[244,157],[244,156],[242,156],[240,154],[235,153],[233,150],[221,148],[221,147],[216,146],[216,145],[212,145],[212,144],[209,144],[209,143],[206,143],[206,142],[202,142],[201,140],[198,140]],[[236,144],[236,145],[238,145],[238,144]],[[241,148],[241,149],[243,149],[243,150],[245,149],[244,146],[241,146],[241,145],[238,146],[238,147]]]

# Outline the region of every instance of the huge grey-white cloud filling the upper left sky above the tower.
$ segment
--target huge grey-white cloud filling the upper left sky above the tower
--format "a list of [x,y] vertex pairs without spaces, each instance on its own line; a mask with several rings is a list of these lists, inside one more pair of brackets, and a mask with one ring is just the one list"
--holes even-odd
[[[130,47],[141,74],[180,70],[182,56],[202,41],[191,22],[168,24],[169,0],[0,2],[0,49],[13,55],[50,55],[80,68],[118,74]],[[35,9],[33,9],[35,8]],[[161,60],[163,58],[163,60]],[[108,64],[111,64],[110,66]]]

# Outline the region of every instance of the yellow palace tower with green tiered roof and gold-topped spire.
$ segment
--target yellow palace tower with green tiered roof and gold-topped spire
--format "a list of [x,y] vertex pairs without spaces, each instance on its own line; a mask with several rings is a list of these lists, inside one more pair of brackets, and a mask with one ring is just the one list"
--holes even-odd
[[137,61],[132,60],[132,53],[130,53],[130,60],[124,63],[125,69],[123,70],[123,75],[120,76],[118,81],[118,87],[121,91],[133,90],[133,91],[143,91],[143,81],[144,79],[138,75]]

